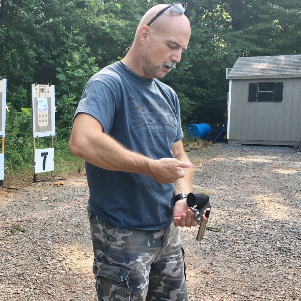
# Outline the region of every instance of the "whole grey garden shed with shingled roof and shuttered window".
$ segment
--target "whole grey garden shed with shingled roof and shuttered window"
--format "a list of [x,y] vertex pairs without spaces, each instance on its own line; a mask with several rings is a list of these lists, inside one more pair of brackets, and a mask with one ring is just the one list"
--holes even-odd
[[300,145],[301,54],[240,57],[228,79],[229,144]]

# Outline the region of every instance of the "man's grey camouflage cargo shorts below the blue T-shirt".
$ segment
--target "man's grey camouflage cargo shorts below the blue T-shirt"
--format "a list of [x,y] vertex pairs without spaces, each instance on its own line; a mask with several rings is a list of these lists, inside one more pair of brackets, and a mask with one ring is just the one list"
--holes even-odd
[[87,210],[99,301],[189,301],[177,227],[122,229]]

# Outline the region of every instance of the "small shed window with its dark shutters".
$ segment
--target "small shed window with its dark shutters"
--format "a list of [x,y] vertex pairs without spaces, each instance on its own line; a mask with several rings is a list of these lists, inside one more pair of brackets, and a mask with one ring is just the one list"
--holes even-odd
[[282,101],[283,82],[250,82],[249,101]]

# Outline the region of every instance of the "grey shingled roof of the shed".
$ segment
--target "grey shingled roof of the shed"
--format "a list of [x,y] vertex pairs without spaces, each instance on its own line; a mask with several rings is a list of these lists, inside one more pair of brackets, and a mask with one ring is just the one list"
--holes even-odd
[[239,57],[229,79],[301,77],[301,54]]

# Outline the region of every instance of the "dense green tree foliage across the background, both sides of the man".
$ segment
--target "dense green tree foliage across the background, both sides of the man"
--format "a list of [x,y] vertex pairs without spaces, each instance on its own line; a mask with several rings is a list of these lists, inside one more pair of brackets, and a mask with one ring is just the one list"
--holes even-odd
[[[67,141],[85,83],[124,57],[141,17],[163,2],[0,0],[0,75],[8,79],[8,131],[16,141],[30,136],[23,127],[31,116],[21,109],[31,107],[34,82],[55,85],[56,139]],[[225,68],[237,57],[301,53],[299,0],[187,0],[186,7],[188,50],[162,79],[178,93],[184,124],[222,121]]]

